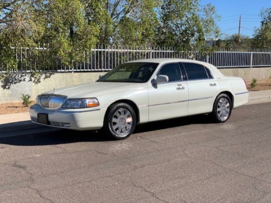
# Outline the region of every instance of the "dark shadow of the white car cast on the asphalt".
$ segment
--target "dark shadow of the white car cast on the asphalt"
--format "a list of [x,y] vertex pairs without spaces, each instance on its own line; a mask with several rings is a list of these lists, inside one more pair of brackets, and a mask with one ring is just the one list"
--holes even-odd
[[[135,127],[134,134],[191,124],[207,124],[207,123],[212,123],[210,116],[207,115],[181,117],[138,125]],[[61,145],[77,142],[117,142],[99,131],[66,130],[47,126],[40,126],[34,123],[31,124],[31,126],[21,128],[20,131],[27,132],[29,131],[29,129],[33,128],[38,129],[38,131],[18,134],[15,136],[13,135],[10,137],[2,137],[0,138],[0,144],[18,145],[18,146],[38,146],[38,145]]]

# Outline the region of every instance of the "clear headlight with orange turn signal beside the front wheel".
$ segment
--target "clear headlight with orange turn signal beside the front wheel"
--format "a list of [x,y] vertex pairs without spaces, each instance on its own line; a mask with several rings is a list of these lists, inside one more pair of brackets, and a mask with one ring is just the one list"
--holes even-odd
[[83,98],[83,99],[68,99],[63,108],[88,108],[98,107],[99,101],[96,98]]

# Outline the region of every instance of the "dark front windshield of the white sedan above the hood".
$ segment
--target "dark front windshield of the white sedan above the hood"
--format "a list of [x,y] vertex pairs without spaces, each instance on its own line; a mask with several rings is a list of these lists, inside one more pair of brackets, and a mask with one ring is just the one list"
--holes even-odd
[[157,66],[158,63],[149,62],[123,63],[103,75],[97,82],[145,83]]

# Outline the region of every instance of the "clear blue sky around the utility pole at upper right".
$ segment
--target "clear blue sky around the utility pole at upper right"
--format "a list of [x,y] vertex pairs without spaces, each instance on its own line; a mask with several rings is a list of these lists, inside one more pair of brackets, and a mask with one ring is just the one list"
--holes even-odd
[[201,0],[201,4],[211,3],[216,12],[221,16],[217,25],[221,29],[222,36],[238,33],[239,16],[241,16],[240,34],[253,36],[254,27],[259,28],[262,8],[270,8],[271,0]]

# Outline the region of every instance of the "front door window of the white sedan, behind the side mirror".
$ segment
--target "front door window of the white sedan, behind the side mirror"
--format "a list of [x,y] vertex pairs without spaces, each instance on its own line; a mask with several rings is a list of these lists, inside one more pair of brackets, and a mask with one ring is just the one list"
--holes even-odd
[[181,71],[178,63],[168,63],[162,66],[157,75],[167,75],[169,82],[181,80]]

